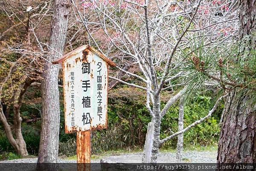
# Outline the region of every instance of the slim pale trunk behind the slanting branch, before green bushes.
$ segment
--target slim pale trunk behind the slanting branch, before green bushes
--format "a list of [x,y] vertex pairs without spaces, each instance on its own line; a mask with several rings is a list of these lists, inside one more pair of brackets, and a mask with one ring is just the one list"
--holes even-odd
[[[184,98],[180,99],[180,108],[179,108],[179,120],[178,120],[178,131],[183,130],[183,118],[184,118]],[[183,151],[183,133],[178,135],[178,142],[177,142],[177,152],[176,152],[176,159],[182,159],[182,151]]]

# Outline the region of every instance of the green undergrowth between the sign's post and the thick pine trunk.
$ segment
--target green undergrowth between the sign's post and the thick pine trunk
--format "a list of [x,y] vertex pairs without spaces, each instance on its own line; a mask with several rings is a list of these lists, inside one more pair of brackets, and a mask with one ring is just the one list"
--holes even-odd
[[[212,92],[209,92],[209,94]],[[184,109],[184,127],[207,115],[212,107],[212,98],[207,95],[196,94],[186,103]],[[116,100],[116,99],[115,99]],[[164,103],[162,103],[162,106]],[[219,107],[218,109],[220,109]],[[161,124],[160,137],[165,138],[177,131],[178,105],[173,105],[164,116]],[[212,117],[184,133],[184,145],[211,145],[218,142],[219,119],[221,110],[217,110]],[[125,147],[143,148],[147,124],[151,116],[143,100],[129,97],[110,100],[108,111],[108,129],[93,132],[93,152],[115,150]],[[164,148],[175,148],[177,137],[166,142]]]

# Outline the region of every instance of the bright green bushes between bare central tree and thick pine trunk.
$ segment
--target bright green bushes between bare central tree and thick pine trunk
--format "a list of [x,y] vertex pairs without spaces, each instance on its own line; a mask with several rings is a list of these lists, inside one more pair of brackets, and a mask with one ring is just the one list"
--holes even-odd
[[[196,120],[206,116],[211,109],[211,98],[205,95],[196,95],[192,101],[188,101],[184,108],[184,128]],[[177,132],[178,128],[178,105],[173,105],[166,113],[161,124],[160,137],[165,138]],[[184,146],[189,145],[210,145],[218,142],[219,116],[220,112],[215,113],[209,119],[191,128],[184,133]],[[163,148],[175,148],[177,137],[164,143]]]

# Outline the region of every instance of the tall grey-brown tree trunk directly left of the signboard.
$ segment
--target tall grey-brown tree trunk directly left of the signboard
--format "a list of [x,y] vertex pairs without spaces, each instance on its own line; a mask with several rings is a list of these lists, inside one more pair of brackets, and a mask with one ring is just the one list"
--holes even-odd
[[[49,55],[44,64],[43,80],[41,82],[42,92],[42,123],[38,154],[38,163],[56,163],[58,159],[58,141],[60,126],[60,108],[58,91],[59,68],[49,61],[60,57],[63,53],[66,40],[69,0],[55,0],[53,5],[53,16],[51,22],[51,34],[49,41]],[[44,168],[45,165],[38,164],[38,170],[55,170],[57,168]]]

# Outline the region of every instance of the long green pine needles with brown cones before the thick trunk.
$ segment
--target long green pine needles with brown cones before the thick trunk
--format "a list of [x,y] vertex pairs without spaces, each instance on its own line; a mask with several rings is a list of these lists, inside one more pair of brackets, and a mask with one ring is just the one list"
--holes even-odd
[[[192,38],[187,49],[181,49],[179,58],[183,63],[175,72],[186,71],[186,96],[205,87],[205,81],[223,90],[236,89],[249,94],[250,102],[256,103],[256,51],[250,36],[241,41],[216,42],[206,46],[201,38]],[[170,71],[171,72],[171,71]],[[180,79],[182,80],[182,79]],[[184,83],[184,82],[183,82]],[[253,104],[248,104],[253,105]]]

